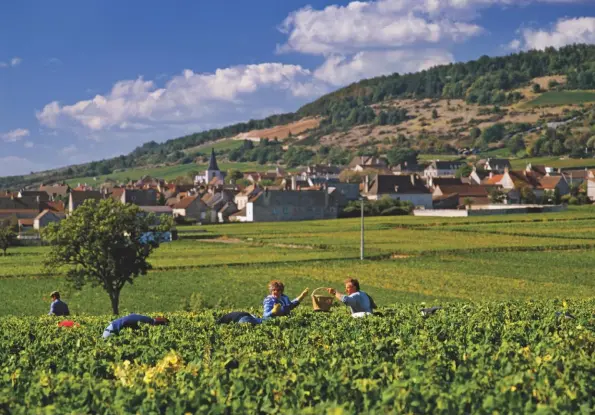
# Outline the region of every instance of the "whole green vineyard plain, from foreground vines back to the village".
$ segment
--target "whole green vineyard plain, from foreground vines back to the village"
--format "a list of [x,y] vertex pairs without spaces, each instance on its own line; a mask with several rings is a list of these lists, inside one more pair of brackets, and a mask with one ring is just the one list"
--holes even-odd
[[[180,229],[122,291],[166,327],[104,341],[99,288],[44,269],[47,247],[0,256],[0,414],[592,413],[595,209],[484,218],[366,218]],[[356,277],[381,306],[310,304],[260,326],[266,284],[289,296]],[[59,289],[80,327],[45,316]],[[423,307],[443,309],[422,316]]]

